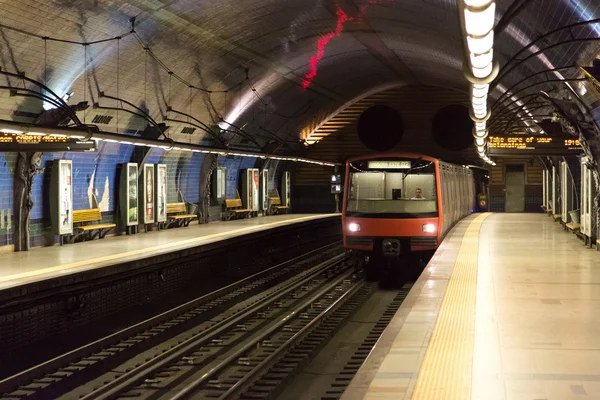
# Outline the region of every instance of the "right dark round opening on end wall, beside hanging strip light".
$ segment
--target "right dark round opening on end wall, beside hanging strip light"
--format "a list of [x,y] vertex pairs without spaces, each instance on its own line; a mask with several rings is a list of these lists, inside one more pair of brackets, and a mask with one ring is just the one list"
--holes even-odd
[[431,126],[433,139],[446,150],[465,150],[473,144],[473,121],[469,109],[460,104],[442,107]]

